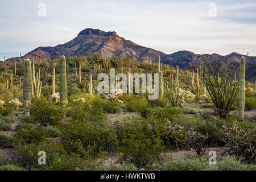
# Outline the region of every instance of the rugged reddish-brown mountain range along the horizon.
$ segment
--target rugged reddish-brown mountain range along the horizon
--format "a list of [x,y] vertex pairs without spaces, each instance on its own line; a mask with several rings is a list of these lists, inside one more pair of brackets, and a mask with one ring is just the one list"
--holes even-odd
[[[55,47],[38,47],[26,55],[22,59],[32,59],[38,61],[42,58],[58,59],[61,55],[69,56],[89,56],[94,52],[100,52],[103,58],[115,56],[130,56],[138,61],[157,61],[158,55],[164,64],[171,67],[178,65],[183,69],[195,69],[195,60],[201,60],[202,55],[195,54],[189,51],[179,51],[167,55],[166,53],[156,51],[151,48],[139,46],[117,35],[116,32],[105,32],[92,28],[82,30],[75,39],[59,44]],[[230,53],[229,55],[221,56],[216,53],[211,55],[206,54],[208,60],[229,60],[233,65],[239,65],[241,56],[239,53]],[[256,77],[256,56],[245,56],[247,59],[246,65],[246,80],[255,80]],[[11,65],[13,61],[19,61],[19,57],[13,57],[7,60],[7,65]]]

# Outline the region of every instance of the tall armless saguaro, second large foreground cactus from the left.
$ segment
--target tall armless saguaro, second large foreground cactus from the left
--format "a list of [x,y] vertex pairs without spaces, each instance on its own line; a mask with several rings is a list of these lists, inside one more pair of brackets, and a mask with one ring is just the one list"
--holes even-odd
[[60,58],[60,100],[63,105],[67,104],[67,72],[65,56]]

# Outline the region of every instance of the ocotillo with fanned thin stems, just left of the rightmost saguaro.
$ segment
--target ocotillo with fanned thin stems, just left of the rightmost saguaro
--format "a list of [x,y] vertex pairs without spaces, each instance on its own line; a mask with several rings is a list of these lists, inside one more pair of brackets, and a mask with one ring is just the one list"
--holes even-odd
[[203,58],[203,63],[196,61],[199,69],[199,77],[208,90],[210,98],[212,98],[214,111],[220,118],[226,118],[234,107],[237,106],[236,97],[238,96],[239,80],[228,73],[228,64],[220,61],[220,68],[218,69],[216,62],[209,63],[206,57]]

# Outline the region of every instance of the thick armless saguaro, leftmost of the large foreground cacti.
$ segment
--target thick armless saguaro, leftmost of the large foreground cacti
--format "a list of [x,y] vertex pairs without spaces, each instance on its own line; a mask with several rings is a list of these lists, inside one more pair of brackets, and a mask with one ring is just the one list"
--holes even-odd
[[[24,65],[24,81],[23,81],[23,98],[24,109],[27,109],[31,104],[31,91],[32,91],[32,76],[31,76],[31,61],[27,59]],[[27,115],[29,112],[27,111]]]

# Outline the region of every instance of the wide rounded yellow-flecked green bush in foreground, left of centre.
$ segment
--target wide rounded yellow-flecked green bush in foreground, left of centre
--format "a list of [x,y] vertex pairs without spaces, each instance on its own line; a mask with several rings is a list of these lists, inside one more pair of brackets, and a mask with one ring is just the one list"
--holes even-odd
[[112,152],[118,144],[117,135],[106,123],[79,120],[61,126],[61,140],[68,152],[93,156]]

